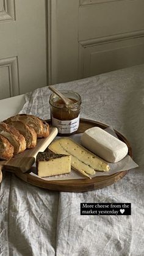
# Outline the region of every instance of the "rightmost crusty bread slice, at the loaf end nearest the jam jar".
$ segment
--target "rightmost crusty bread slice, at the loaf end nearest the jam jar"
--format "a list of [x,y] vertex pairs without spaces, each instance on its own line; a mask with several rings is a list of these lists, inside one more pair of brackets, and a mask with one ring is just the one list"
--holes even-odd
[[7,121],[22,121],[26,123],[26,125],[31,126],[35,132],[37,133],[37,137],[48,137],[49,136],[49,125],[48,123],[44,122],[38,117],[34,115],[27,115],[27,114],[18,114],[14,117],[10,117]]

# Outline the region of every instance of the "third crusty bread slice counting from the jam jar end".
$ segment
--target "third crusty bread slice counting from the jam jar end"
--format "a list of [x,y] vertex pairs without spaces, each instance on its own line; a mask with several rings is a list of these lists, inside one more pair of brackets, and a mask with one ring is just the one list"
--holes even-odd
[[7,138],[14,147],[14,154],[23,152],[26,149],[26,140],[14,127],[0,122],[0,134]]

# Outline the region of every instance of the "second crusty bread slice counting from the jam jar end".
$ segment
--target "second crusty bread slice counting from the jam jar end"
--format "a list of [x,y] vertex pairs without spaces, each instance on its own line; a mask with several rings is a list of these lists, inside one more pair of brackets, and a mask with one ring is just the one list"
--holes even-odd
[[11,119],[7,119],[4,122],[15,127],[16,130],[23,134],[26,139],[26,148],[33,148],[37,145],[37,133],[35,133],[35,130],[32,127],[26,125],[23,121],[12,121]]

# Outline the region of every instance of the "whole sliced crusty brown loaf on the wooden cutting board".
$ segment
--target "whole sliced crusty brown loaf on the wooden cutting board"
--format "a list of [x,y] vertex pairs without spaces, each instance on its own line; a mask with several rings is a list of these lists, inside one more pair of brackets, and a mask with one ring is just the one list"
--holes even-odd
[[34,115],[20,114],[0,122],[0,159],[9,159],[49,136],[49,125]]

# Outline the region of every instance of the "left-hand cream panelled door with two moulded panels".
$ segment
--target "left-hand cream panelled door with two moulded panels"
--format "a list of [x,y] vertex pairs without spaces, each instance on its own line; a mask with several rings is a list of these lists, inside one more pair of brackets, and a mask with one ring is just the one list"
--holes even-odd
[[0,0],[0,99],[47,85],[46,1]]

